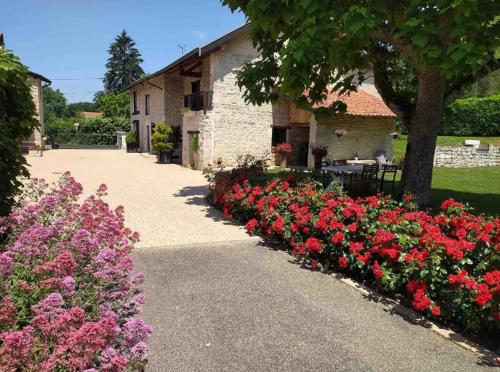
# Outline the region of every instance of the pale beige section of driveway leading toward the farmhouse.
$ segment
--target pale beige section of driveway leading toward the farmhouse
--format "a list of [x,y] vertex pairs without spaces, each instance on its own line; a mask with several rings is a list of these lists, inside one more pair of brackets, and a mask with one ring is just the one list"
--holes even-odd
[[69,170],[86,194],[106,183],[106,200],[123,205],[127,226],[140,233],[138,247],[251,239],[205,204],[199,171],[118,150],[51,150],[28,162],[33,177],[50,181]]

